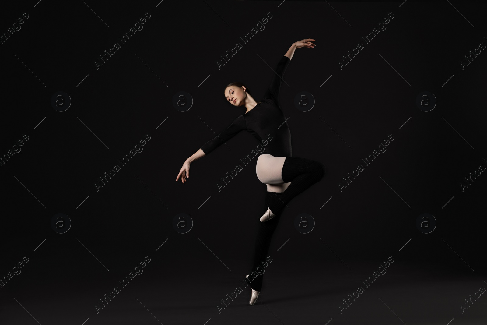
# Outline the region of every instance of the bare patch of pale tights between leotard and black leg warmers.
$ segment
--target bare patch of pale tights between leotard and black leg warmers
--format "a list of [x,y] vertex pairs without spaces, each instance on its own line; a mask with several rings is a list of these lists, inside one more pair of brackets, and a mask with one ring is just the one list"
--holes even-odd
[[255,172],[257,178],[267,186],[268,192],[283,192],[289,183],[282,180],[282,166],[286,157],[274,157],[271,154],[263,153],[257,158]]

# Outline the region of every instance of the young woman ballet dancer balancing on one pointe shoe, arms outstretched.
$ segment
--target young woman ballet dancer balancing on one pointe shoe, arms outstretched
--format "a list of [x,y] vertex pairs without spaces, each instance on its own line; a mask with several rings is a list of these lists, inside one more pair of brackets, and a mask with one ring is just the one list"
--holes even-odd
[[[189,165],[212,152],[240,131],[247,131],[264,144],[264,151],[257,158],[257,178],[267,186],[265,209],[256,238],[254,265],[245,277],[250,283],[254,305],[262,288],[262,266],[269,250],[272,234],[277,227],[282,210],[296,195],[323,178],[326,169],[315,160],[293,157],[291,154],[291,133],[286,118],[279,107],[279,90],[282,76],[291,61],[294,51],[301,47],[314,48],[312,38],[305,38],[291,45],[277,64],[274,77],[261,102],[257,102],[244,84],[230,83],[225,87],[225,98],[237,107],[244,106],[245,113],[237,117],[221,134],[206,142],[201,149],[186,159],[176,181],[181,177],[185,183],[189,178]],[[266,140],[263,140],[266,139]],[[266,144],[265,144],[266,143]],[[262,264],[262,266],[261,266]]]

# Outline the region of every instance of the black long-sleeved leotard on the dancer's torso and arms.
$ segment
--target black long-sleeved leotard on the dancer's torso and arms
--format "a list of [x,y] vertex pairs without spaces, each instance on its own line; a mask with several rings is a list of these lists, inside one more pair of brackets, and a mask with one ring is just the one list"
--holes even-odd
[[276,68],[277,75],[274,74],[262,102],[237,117],[225,131],[206,142],[201,147],[205,154],[212,152],[240,131],[245,130],[254,135],[263,145],[262,153],[269,153],[276,157],[291,156],[291,132],[279,107],[282,76],[284,76],[289,62],[291,62],[289,57],[281,58]]

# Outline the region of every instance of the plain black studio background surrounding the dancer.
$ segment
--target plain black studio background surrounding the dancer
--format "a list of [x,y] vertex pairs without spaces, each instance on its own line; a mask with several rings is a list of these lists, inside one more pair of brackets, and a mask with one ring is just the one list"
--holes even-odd
[[[23,13],[29,18],[0,45],[0,154],[24,134],[29,140],[0,167],[0,277],[24,256],[29,262],[0,289],[1,323],[158,324],[155,317],[162,324],[260,324],[259,310],[271,317],[260,319],[267,324],[403,324],[399,316],[405,324],[481,324],[482,298],[464,314],[458,305],[487,281],[487,176],[464,191],[460,184],[487,166],[486,54],[463,70],[460,62],[487,43],[485,9],[482,2],[410,0],[2,4],[0,33]],[[143,29],[122,45],[118,37],[146,13]],[[267,13],[264,30],[244,44],[241,37]],[[362,37],[389,13],[387,29],[365,44]],[[262,290],[268,308],[246,306],[245,290],[218,314],[215,305],[250,265],[266,187],[255,174],[257,159],[221,191],[217,184],[258,143],[240,133],[228,141],[231,149],[222,145],[193,162],[187,183],[175,179],[187,157],[244,113],[225,102],[225,86],[242,81],[260,100],[272,69],[303,38],[317,46],[296,50],[281,109],[293,156],[318,160],[328,172],[281,218]],[[121,48],[97,70],[94,62],[115,42]],[[340,70],[358,42],[364,49]],[[243,48],[219,69],[236,43]],[[51,106],[58,91],[72,99],[67,111]],[[180,91],[193,100],[186,112],[172,104]],[[316,100],[308,112],[294,106],[302,91]],[[430,112],[415,104],[424,91],[437,100]],[[122,167],[118,159],[146,134],[143,151]],[[362,159],[390,134],[387,151],[365,166]],[[114,165],[121,171],[97,191]],[[357,165],[364,171],[340,191]],[[56,213],[69,216],[69,231],[51,228]],[[172,226],[178,213],[194,222],[185,234]],[[313,216],[310,233],[294,228],[300,213]],[[422,213],[437,222],[431,233],[416,227]],[[146,275],[97,314],[98,299],[146,256]],[[368,308],[362,298],[338,316],[342,299],[389,256],[389,275],[375,288],[382,286],[383,302],[400,315],[376,298],[376,309]],[[270,299],[273,287],[286,298]]]

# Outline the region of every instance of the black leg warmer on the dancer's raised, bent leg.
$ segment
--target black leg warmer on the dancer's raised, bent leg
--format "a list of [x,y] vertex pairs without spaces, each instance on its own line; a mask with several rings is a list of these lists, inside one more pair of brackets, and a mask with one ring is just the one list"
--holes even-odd
[[270,198],[269,209],[271,212],[276,215],[281,214],[292,198],[321,180],[325,172],[326,168],[316,160],[286,157],[281,176],[283,182],[291,182],[291,184],[282,192],[281,196],[274,195]]

